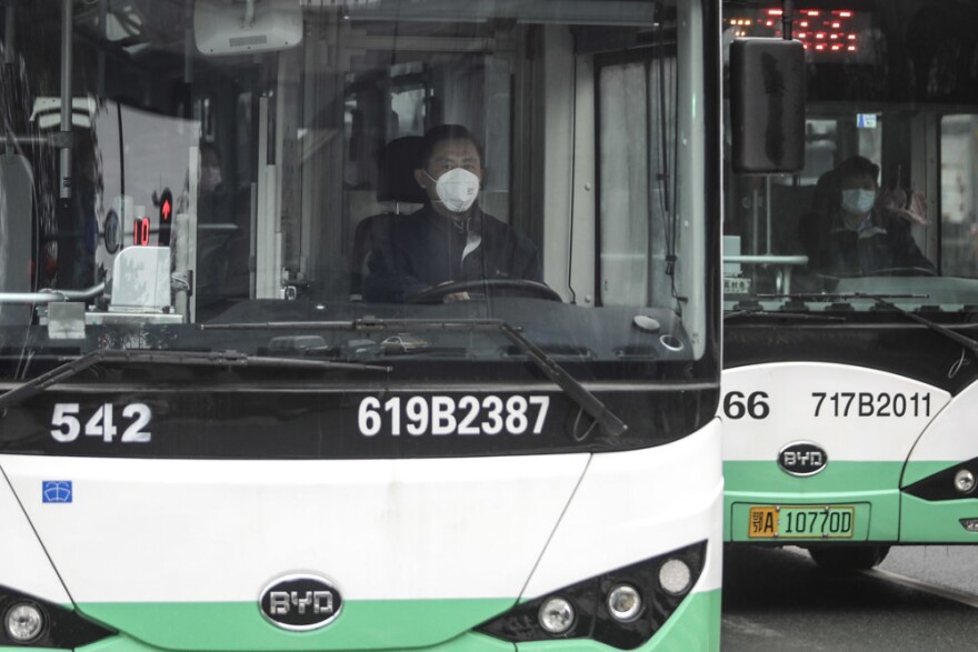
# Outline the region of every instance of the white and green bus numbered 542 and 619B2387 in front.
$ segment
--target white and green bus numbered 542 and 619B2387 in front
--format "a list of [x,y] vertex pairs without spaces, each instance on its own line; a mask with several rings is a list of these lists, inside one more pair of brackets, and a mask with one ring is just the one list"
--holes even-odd
[[719,648],[719,2],[2,7],[0,649]]

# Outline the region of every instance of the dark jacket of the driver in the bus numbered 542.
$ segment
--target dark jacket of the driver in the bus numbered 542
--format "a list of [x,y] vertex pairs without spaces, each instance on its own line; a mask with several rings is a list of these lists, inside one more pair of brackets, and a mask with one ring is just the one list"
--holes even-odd
[[446,281],[542,280],[532,241],[478,205],[463,223],[426,204],[385,229],[367,261],[367,301],[401,302]]

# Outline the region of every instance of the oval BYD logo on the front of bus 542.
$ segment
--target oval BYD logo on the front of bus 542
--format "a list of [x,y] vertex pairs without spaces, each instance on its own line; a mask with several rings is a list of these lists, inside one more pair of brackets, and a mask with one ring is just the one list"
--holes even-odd
[[342,609],[340,592],[316,575],[279,578],[261,592],[261,613],[286,630],[307,631],[329,624]]

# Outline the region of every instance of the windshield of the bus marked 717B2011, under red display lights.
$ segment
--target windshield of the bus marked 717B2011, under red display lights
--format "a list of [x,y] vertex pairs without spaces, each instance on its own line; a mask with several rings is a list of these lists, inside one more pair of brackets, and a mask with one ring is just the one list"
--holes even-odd
[[[799,2],[805,169],[731,175],[726,309],[966,323],[978,311],[972,3]],[[776,2],[729,2],[725,39],[781,37]],[[898,310],[894,310],[897,308]],[[828,322],[827,322],[828,323]]]

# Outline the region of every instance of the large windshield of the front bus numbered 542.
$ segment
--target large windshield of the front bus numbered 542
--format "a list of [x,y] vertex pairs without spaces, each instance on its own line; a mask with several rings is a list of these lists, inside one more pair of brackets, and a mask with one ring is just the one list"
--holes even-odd
[[0,377],[149,349],[546,380],[503,323],[581,381],[715,378],[698,11],[8,4]]

